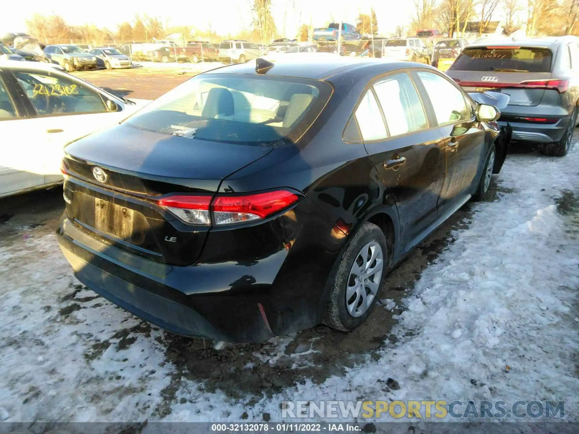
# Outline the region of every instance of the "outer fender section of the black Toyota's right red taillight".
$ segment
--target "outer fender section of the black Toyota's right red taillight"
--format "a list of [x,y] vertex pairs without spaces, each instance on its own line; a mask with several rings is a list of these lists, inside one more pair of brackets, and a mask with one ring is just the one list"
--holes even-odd
[[217,196],[211,204],[215,225],[261,220],[287,208],[298,196],[286,190],[250,194],[248,196]]

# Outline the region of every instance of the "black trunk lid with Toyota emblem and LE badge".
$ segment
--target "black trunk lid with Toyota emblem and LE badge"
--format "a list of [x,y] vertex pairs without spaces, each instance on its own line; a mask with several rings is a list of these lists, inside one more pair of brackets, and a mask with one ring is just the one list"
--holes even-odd
[[65,148],[67,214],[105,244],[158,262],[191,264],[211,226],[188,225],[158,201],[174,193],[212,197],[223,178],[271,150],[123,124]]

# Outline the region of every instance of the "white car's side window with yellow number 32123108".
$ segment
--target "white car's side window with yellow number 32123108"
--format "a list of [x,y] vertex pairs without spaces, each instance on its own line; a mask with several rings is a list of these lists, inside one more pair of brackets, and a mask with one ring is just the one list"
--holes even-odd
[[100,94],[63,76],[16,71],[14,76],[38,115],[78,115],[108,111]]

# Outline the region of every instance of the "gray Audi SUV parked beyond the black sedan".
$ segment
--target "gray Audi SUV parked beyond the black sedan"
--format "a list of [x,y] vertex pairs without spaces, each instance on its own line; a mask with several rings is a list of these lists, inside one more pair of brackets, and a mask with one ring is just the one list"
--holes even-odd
[[577,125],[579,38],[475,43],[446,73],[468,92],[510,95],[499,124],[510,124],[512,138],[540,144],[547,155],[567,155]]

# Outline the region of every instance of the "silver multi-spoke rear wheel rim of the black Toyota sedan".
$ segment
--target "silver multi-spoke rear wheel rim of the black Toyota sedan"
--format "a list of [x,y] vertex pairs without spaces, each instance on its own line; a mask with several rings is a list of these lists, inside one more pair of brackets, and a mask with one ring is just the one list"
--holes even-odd
[[354,317],[365,314],[378,295],[382,282],[384,255],[376,241],[366,244],[351,267],[346,286],[346,309]]

